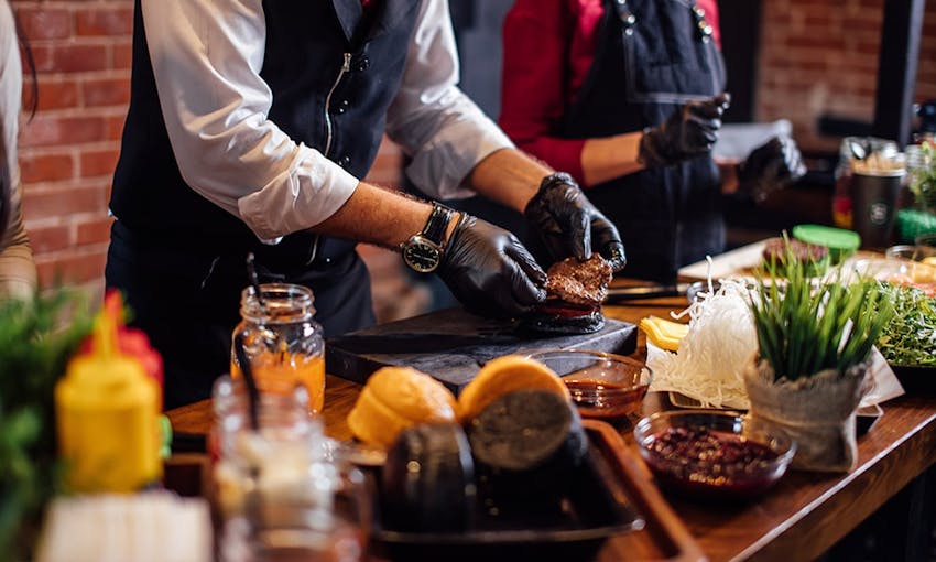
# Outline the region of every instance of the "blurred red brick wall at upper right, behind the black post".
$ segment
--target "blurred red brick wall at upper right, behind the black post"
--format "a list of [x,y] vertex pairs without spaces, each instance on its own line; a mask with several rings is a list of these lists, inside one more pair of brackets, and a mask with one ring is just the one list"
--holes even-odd
[[[884,0],[764,0],[757,118],[786,117],[799,144],[835,151],[828,114],[871,122]],[[926,3],[914,100],[936,98],[936,2]]]

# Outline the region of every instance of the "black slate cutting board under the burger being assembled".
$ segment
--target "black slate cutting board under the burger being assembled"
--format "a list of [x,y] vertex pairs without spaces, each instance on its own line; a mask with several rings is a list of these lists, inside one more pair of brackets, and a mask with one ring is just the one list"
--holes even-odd
[[502,355],[549,349],[629,355],[635,348],[636,326],[617,320],[607,318],[594,334],[531,336],[518,331],[515,322],[448,309],[328,338],[325,367],[361,383],[380,367],[413,367],[458,392],[482,365]]

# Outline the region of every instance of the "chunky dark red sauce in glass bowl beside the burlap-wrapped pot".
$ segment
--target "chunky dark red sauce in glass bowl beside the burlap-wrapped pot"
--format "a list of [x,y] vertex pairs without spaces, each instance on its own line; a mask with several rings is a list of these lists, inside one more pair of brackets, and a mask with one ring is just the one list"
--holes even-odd
[[704,428],[668,428],[647,444],[656,476],[697,493],[722,491],[738,496],[760,493],[782,472],[777,454],[742,435]]

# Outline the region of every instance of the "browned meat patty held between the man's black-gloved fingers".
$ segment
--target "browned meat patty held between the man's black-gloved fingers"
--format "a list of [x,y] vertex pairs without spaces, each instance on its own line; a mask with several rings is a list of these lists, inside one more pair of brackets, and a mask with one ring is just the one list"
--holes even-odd
[[608,295],[608,284],[613,277],[611,266],[598,253],[586,261],[566,258],[546,272],[546,298],[563,302],[595,306]]

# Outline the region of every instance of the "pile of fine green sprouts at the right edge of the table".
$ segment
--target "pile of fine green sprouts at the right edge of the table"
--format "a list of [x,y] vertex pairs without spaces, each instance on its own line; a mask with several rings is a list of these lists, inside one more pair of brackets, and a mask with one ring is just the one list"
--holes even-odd
[[936,367],[936,298],[915,287],[880,283],[895,314],[878,338],[878,348],[894,365]]

